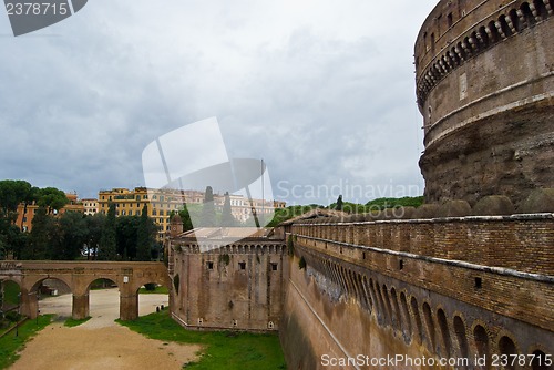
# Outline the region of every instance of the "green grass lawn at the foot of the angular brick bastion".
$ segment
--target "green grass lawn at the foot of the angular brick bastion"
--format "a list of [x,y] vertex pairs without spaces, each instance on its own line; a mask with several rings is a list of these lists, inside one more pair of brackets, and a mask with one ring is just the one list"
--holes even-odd
[[185,330],[175,322],[168,310],[140,317],[135,321],[120,321],[148,338],[182,343],[204,345],[201,360],[186,369],[248,370],[286,369],[285,358],[276,333],[209,332]]

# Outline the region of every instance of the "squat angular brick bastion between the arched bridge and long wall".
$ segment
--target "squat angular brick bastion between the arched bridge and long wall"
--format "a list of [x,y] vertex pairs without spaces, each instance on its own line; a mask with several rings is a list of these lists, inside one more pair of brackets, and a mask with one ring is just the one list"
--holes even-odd
[[207,249],[172,240],[173,317],[187,328],[279,329],[288,259],[281,240],[243,239]]

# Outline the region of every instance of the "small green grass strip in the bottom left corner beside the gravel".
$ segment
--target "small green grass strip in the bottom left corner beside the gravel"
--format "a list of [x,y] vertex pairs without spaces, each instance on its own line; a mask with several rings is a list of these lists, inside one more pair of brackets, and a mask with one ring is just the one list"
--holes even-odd
[[19,336],[16,337],[16,330],[0,338],[0,369],[8,369],[17,359],[25,342],[37,332],[44,329],[52,321],[52,315],[42,315],[37,320],[27,320],[19,329]]

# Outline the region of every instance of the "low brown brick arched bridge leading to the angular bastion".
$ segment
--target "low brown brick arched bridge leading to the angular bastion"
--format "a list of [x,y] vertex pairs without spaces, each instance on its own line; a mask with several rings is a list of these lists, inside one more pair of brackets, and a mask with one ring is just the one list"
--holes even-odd
[[89,291],[98,279],[110,279],[120,289],[120,319],[138,317],[138,289],[150,282],[170,287],[163,263],[117,261],[1,261],[0,281],[14,281],[21,288],[21,314],[38,315],[37,291],[45,279],[58,279],[73,294],[73,319],[89,316]]

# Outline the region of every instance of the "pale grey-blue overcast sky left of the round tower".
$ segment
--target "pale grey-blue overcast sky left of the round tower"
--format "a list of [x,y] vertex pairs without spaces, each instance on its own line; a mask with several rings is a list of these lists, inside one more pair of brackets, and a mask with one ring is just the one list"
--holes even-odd
[[151,142],[215,116],[276,198],[419,195],[413,43],[437,2],[90,0],[18,38],[2,13],[0,178],[143,186]]

